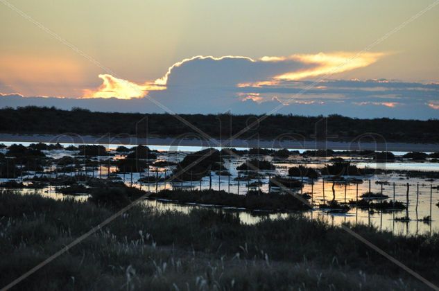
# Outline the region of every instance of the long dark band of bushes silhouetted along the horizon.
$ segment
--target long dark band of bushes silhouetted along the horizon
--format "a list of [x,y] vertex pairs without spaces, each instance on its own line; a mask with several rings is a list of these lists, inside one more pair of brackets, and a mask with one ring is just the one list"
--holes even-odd
[[[138,123],[145,116],[147,123]],[[189,123],[196,125],[210,136],[232,136],[248,126],[249,118],[258,115],[180,114]],[[259,126],[244,133],[241,138],[250,138],[255,133],[261,139],[275,139],[280,134],[301,134],[307,139],[315,134],[316,123],[323,116],[270,115]],[[227,120],[232,126],[219,123]],[[220,132],[221,128],[221,132]],[[386,141],[411,143],[438,143],[439,120],[399,120],[390,118],[359,119],[340,115],[327,116],[327,134],[336,134],[334,140],[351,141],[366,132],[379,134]],[[179,136],[196,133],[191,127],[177,121],[169,114],[139,114],[117,112],[89,112],[89,110],[61,110],[55,107],[6,107],[0,109],[0,132],[62,134],[139,134],[148,132],[157,136]],[[370,140],[372,141],[372,140]]]

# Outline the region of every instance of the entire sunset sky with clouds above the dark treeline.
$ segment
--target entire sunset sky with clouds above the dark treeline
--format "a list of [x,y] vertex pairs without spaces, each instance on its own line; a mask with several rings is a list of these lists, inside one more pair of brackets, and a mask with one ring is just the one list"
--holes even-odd
[[0,1],[0,107],[439,118],[439,4]]

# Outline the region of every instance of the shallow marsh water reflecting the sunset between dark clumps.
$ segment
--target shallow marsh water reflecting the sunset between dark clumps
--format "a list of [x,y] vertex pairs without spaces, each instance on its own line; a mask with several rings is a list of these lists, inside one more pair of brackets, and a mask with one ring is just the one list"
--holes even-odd
[[[10,145],[14,142],[6,143],[6,145]],[[27,143],[22,143],[27,145]],[[66,144],[67,145],[67,144]],[[125,145],[130,147],[132,145]],[[192,152],[193,150],[200,150],[197,147],[180,147],[179,151],[169,151],[169,146],[162,145],[148,145],[153,150],[158,150],[159,153],[157,155],[157,161],[173,161],[178,162],[187,155],[188,152]],[[110,148],[116,148],[116,145]],[[166,148],[168,150],[166,150]],[[183,151],[187,150],[187,151]],[[5,150],[1,150],[5,152]],[[65,155],[73,155],[74,153],[66,151],[66,150],[51,150],[45,152],[48,157],[52,157],[54,159],[58,159]],[[401,153],[397,153],[400,155]],[[81,157],[76,156],[78,161],[81,161]],[[109,157],[98,157],[98,161],[103,161],[108,159]],[[112,156],[113,159],[122,159],[123,155],[115,155]],[[249,156],[243,157],[233,157],[233,158],[225,158],[225,168],[230,172],[230,182],[229,177],[227,176],[218,176],[212,172],[212,188],[216,190],[225,190],[230,191],[231,193],[239,193],[240,195],[244,195],[247,193],[248,188],[246,187],[247,182],[238,182],[235,181],[234,178],[238,176],[238,170],[236,170],[236,166],[239,166],[246,159],[250,158]],[[268,159],[273,162],[276,166],[276,170],[270,171],[261,171],[264,174],[264,177],[260,179],[263,183],[260,186],[261,191],[268,192],[268,179],[269,176],[273,175],[287,175],[288,168],[291,166],[296,166],[298,164],[309,166],[313,168],[320,168],[324,166],[328,162],[327,159],[322,158],[307,158],[303,159],[302,157],[291,157],[287,160],[278,160],[273,159],[273,157],[259,157]],[[411,162],[411,161],[395,161],[393,163],[376,163],[372,160],[368,159],[352,159],[352,163],[359,166],[359,168],[385,168],[388,170],[387,174],[373,175],[368,177],[360,177],[364,180],[363,184],[335,184],[334,190],[336,194],[336,200],[338,202],[348,202],[349,200],[356,200],[357,186],[358,193],[361,195],[369,190],[369,182],[370,181],[370,190],[372,192],[381,192],[381,185],[377,184],[377,182],[386,182],[383,185],[383,193],[388,195],[390,200],[393,200],[393,184],[395,183],[395,199],[397,201],[406,202],[406,184],[410,184],[409,190],[409,204],[408,204],[408,215],[411,218],[410,222],[397,222],[395,218],[401,218],[406,215],[406,211],[368,211],[367,209],[357,209],[352,207],[350,211],[343,214],[335,214],[335,213],[327,213],[325,211],[321,211],[318,209],[318,204],[322,204],[323,202],[327,202],[328,200],[332,200],[332,182],[323,181],[322,178],[313,181],[313,185],[311,185],[311,181],[308,179],[304,179],[304,188],[302,188],[303,193],[312,193],[312,201],[313,205],[316,206],[312,211],[300,211],[300,212],[290,212],[290,213],[267,213],[267,212],[249,212],[249,211],[236,211],[233,209],[225,210],[225,211],[234,211],[237,212],[239,218],[243,223],[246,224],[254,224],[259,222],[262,219],[270,218],[286,218],[289,215],[301,215],[308,218],[319,218],[327,220],[329,223],[338,225],[344,222],[362,223],[362,224],[373,224],[379,229],[393,231],[397,234],[422,234],[422,233],[431,233],[433,231],[439,231],[439,208],[436,206],[436,203],[439,201],[439,190],[438,188],[431,188],[431,186],[438,186],[438,182],[436,181],[426,181],[425,179],[417,179],[410,178],[407,179],[404,175],[398,175],[395,173],[391,173],[391,170],[429,170],[429,171],[439,171],[439,163],[433,162]],[[55,177],[56,173],[51,173],[51,170],[55,168],[44,168],[44,175],[51,175]],[[165,171],[169,175],[173,170],[172,166],[166,167],[153,167],[149,168],[149,175],[155,175],[155,170],[159,171],[160,177],[164,177]],[[94,177],[102,177],[105,178],[109,173],[117,175],[120,179],[123,180],[127,185],[136,186],[142,188],[146,191],[160,191],[164,188],[172,189],[172,188],[201,188],[206,189],[209,188],[209,177],[204,177],[201,182],[182,182],[182,183],[150,183],[150,184],[142,184],[138,182],[139,178],[148,175],[148,170],[145,170],[144,173],[127,173],[125,175],[121,173],[117,173],[117,168],[114,166],[107,166],[105,164],[101,164],[101,166],[97,169],[92,168],[81,168],[78,173],[87,173],[87,175],[93,175]],[[76,174],[78,174],[76,173]],[[35,173],[31,173],[33,176]],[[42,175],[42,174],[36,174]],[[68,173],[67,175],[75,175],[75,173]],[[24,177],[22,177],[24,178]],[[325,177],[323,177],[325,178]],[[0,179],[0,182],[5,182],[7,179]],[[257,179],[250,180],[251,182],[257,182]],[[419,192],[417,188],[419,187]],[[35,190],[33,189],[24,189],[20,190],[21,193],[33,193]],[[60,193],[56,193],[55,187],[46,187],[42,189],[37,189],[37,193],[45,197],[52,197],[54,199],[62,199],[66,197],[66,195],[62,195]],[[431,198],[430,198],[431,195]],[[73,196],[76,200],[87,200],[87,195],[82,196]],[[360,198],[359,198],[360,199]],[[432,205],[430,203],[430,199]],[[173,203],[164,203],[153,200],[146,200],[143,202],[148,206],[153,206],[160,210],[175,210],[187,212],[194,207],[193,205],[179,205]],[[430,205],[431,205],[431,213],[430,213]],[[432,221],[430,223],[422,222],[422,218],[431,215]]]

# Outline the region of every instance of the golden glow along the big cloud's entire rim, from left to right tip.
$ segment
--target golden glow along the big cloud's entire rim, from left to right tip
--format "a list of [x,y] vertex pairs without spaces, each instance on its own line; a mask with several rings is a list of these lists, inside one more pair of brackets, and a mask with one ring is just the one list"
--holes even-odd
[[[243,57],[239,55],[225,55],[222,57],[213,57],[212,55],[203,56],[197,55],[192,58],[186,58],[180,62],[175,62],[166,71],[162,78],[157,78],[153,81],[145,82],[144,84],[137,84],[128,80],[116,78],[110,74],[101,74],[99,78],[103,80],[103,84],[97,89],[84,90],[83,98],[142,98],[148,94],[149,91],[158,91],[166,89],[169,82],[169,76],[173,69],[182,66],[182,64],[191,62],[194,60],[214,60],[221,61],[225,59],[244,59],[250,62],[285,62],[287,65],[291,64],[304,64],[307,69],[296,69],[288,73],[279,73],[271,76],[266,76],[267,80],[260,80],[259,82],[246,82],[239,83],[237,87],[264,87],[277,85],[282,80],[301,80],[305,78],[324,76],[325,74],[341,73],[344,71],[350,71],[361,67],[367,67],[374,62],[377,62],[384,53],[318,53],[308,55],[290,55],[287,57],[263,57],[259,60],[253,60],[252,58]],[[246,97],[248,98],[248,96]],[[251,99],[260,102],[261,97],[251,96]],[[390,105],[389,105],[390,107]]]

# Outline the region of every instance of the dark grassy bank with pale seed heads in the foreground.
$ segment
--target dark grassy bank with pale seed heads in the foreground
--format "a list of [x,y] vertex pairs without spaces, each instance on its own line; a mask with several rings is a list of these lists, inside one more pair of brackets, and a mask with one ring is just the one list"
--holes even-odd
[[[0,288],[108,218],[92,202],[0,193]],[[439,235],[353,227],[439,283]],[[426,285],[343,231],[304,218],[241,224],[233,213],[135,206],[17,290],[418,290]]]

